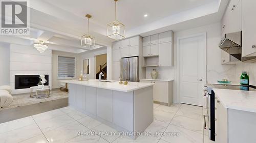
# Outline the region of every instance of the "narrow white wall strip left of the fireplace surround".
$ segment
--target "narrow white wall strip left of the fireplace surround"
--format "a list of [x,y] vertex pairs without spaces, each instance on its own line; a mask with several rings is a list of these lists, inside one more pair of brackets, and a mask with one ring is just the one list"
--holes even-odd
[[10,44],[0,43],[0,86],[10,84]]

